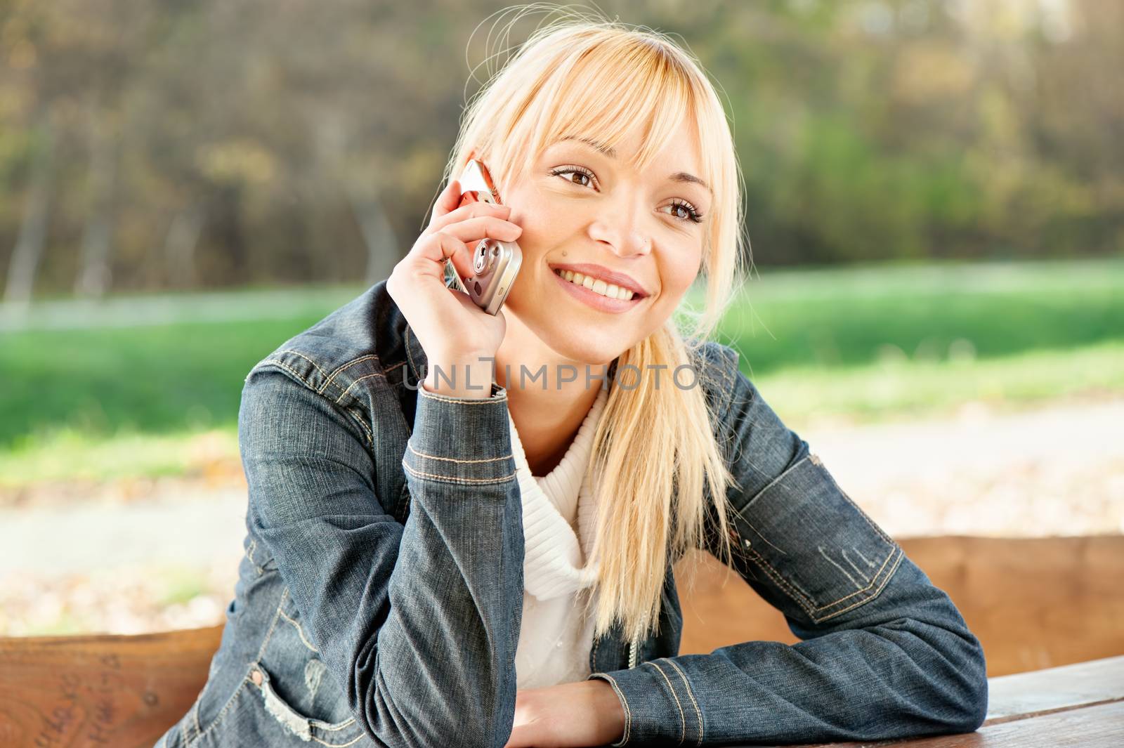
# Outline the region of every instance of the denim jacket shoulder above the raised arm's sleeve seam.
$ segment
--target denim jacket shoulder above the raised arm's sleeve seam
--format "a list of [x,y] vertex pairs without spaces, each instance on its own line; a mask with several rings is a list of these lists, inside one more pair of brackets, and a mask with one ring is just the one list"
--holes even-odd
[[353,400],[364,382],[386,380],[407,362],[406,319],[386,280],[289,338],[246,374],[246,386],[281,372],[336,404]]

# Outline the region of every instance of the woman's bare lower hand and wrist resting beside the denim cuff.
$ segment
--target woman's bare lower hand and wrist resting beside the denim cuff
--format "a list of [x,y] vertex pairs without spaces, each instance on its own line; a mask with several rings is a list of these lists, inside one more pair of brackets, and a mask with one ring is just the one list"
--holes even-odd
[[625,712],[601,679],[524,688],[515,694],[515,726],[505,748],[607,746],[625,732]]

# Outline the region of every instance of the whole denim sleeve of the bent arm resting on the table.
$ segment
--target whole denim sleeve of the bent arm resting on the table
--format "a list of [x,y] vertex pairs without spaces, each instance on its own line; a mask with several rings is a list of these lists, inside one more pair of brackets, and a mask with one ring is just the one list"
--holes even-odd
[[[987,712],[986,666],[960,612],[840,489],[736,361],[734,373],[719,423],[741,484],[728,493],[733,563],[801,641],[746,641],[591,674],[625,709],[614,745],[976,730]],[[707,545],[717,556],[713,522]]]

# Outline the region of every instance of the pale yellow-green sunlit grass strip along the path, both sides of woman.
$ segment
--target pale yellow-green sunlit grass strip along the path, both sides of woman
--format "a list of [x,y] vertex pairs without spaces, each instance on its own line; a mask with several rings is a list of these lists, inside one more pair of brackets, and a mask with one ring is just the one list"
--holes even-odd
[[[1018,409],[1075,393],[1124,394],[1124,343],[959,362],[885,361],[855,367],[791,368],[755,376],[762,398],[797,430],[825,416],[855,422],[924,418],[982,401]],[[200,449],[200,441],[206,447]],[[62,431],[0,451],[0,487],[42,481],[183,475],[202,459],[238,459],[234,425],[210,432]]]

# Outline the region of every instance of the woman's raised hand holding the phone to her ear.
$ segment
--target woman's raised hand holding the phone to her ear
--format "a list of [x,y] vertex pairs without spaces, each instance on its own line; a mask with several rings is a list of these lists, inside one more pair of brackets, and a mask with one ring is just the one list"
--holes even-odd
[[[496,355],[507,323],[502,311],[493,317],[466,293],[445,286],[445,258],[468,277],[473,274],[470,247],[484,238],[514,241],[523,232],[507,220],[508,206],[472,202],[457,208],[460,202],[461,185],[453,180],[438,197],[429,226],[387,279],[387,292],[417,335],[430,371],[441,366],[457,381],[470,362]],[[480,396],[488,395],[486,386]]]

